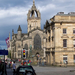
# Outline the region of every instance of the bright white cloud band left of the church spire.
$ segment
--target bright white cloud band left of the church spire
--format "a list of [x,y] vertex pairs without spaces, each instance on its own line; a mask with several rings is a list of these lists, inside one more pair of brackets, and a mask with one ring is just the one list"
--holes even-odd
[[0,9],[0,18],[12,17],[12,16],[24,16],[28,12],[24,7],[11,7],[9,9]]

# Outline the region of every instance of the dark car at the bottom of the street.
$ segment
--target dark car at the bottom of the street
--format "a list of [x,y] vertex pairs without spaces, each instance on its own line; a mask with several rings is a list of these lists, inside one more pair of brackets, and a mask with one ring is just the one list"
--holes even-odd
[[16,75],[36,75],[32,66],[19,66],[16,69]]

